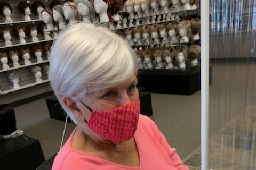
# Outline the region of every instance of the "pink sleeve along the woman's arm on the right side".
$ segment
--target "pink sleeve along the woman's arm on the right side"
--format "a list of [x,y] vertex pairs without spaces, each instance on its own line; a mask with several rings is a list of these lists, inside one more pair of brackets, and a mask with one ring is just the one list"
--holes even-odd
[[164,137],[163,133],[159,131],[157,128],[156,124],[149,118],[150,124],[153,128],[153,131],[155,133],[155,136],[159,143],[163,146],[164,150],[166,150],[167,154],[169,155],[173,165],[178,169],[178,170],[188,170],[188,167],[184,166],[182,160],[180,159],[179,155],[176,152],[175,148],[171,148],[169,143],[167,142],[166,138]]

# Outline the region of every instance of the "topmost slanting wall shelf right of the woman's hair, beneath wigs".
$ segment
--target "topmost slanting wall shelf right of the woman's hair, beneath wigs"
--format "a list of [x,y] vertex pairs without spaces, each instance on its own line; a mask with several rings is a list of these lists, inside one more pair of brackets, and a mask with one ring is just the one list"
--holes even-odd
[[[193,14],[199,14],[199,13],[200,13],[199,10],[186,10],[186,11],[170,12],[170,13],[164,13],[164,14],[183,16],[183,15],[193,15]],[[160,15],[163,15],[163,14],[160,14]],[[176,18],[175,18],[174,20],[162,20],[162,21],[158,21],[158,22],[144,23],[144,21],[146,21],[149,18],[152,18],[152,16],[159,16],[159,15],[150,15],[150,16],[142,17],[142,18],[134,18],[136,20],[142,21],[142,24],[132,25],[132,26],[129,26],[129,27],[122,27],[122,28],[113,28],[111,30],[122,30],[122,29],[127,29],[127,28],[139,27],[139,26],[143,26],[143,25],[151,25],[151,24],[156,24],[156,23],[165,23],[165,22],[177,21]],[[131,19],[124,19],[124,20],[119,20],[119,21],[123,22],[123,21],[129,21],[129,20],[131,20]],[[114,22],[118,22],[118,21],[114,21]],[[114,22],[108,22],[106,24],[111,25]]]

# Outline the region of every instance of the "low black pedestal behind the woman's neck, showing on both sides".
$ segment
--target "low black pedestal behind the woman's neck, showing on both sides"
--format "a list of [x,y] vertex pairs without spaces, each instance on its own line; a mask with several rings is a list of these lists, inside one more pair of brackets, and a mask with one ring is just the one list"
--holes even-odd
[[[140,95],[140,113],[146,116],[151,116],[153,113],[152,113],[150,92],[139,91],[139,95]],[[51,118],[55,118],[60,121],[66,120],[66,113],[60,106],[55,96],[46,98],[46,103],[47,103],[47,107],[48,107]],[[68,121],[71,122],[69,118],[68,118]]]

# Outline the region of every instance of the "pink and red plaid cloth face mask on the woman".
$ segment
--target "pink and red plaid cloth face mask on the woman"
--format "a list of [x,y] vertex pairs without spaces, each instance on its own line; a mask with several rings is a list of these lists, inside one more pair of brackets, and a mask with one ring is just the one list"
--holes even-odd
[[140,100],[109,111],[92,111],[89,128],[100,137],[110,141],[126,141],[133,137],[138,124]]

